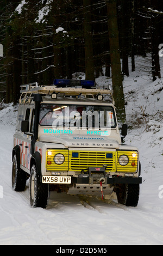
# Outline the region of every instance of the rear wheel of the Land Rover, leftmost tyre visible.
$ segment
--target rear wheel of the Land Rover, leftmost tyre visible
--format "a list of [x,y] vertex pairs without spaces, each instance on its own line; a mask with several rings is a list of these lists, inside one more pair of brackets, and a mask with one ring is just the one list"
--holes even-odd
[[24,191],[26,181],[27,173],[18,166],[16,155],[14,155],[12,161],[12,189],[14,191]]

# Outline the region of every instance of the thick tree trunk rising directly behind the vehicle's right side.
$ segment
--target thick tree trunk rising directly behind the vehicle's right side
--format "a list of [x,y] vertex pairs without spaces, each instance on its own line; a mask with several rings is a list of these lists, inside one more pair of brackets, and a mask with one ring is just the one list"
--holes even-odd
[[117,108],[118,121],[122,123],[126,121],[126,112],[124,107],[124,94],[122,84],[120,46],[117,25],[116,1],[106,1],[108,8],[108,29],[110,44],[110,60],[111,60],[111,78],[112,89],[114,90],[115,106]]

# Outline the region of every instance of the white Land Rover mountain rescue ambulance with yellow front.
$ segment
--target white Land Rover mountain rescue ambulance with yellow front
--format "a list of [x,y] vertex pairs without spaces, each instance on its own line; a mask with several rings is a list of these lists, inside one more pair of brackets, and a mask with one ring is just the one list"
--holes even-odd
[[[136,206],[139,151],[123,144],[112,90],[92,81],[54,80],[52,86],[21,86],[12,150],[12,188],[30,205],[46,208],[49,191],[105,198]],[[111,102],[109,102],[111,100]]]

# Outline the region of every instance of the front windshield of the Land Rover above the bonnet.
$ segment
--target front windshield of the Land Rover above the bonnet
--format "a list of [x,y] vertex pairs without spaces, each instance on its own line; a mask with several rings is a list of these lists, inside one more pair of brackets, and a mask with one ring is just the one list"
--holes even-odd
[[41,104],[41,126],[70,129],[109,129],[116,127],[114,108],[95,105]]

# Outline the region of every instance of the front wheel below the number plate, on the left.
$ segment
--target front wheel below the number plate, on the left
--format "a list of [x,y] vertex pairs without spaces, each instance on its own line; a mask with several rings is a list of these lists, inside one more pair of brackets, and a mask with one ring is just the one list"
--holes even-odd
[[33,164],[29,179],[29,198],[32,208],[46,208],[48,202],[48,184],[42,184]]

